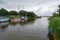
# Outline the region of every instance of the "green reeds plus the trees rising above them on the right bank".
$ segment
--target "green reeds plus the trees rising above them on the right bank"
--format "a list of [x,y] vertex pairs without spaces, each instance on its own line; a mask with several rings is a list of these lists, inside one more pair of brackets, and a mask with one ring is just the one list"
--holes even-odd
[[60,40],[60,5],[57,12],[53,13],[53,16],[50,17],[49,29],[52,29],[56,34],[56,40]]

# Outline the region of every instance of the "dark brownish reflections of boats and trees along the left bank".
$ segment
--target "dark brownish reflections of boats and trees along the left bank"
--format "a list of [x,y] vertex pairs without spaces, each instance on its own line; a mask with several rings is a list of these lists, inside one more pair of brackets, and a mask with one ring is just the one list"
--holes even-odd
[[30,20],[27,20],[27,21],[20,21],[20,22],[3,22],[3,23],[0,23],[0,29],[1,30],[5,30],[9,25],[11,26],[15,26],[17,24],[20,24],[21,26],[23,25],[26,25],[28,23],[33,23],[35,21],[35,19],[30,19]]

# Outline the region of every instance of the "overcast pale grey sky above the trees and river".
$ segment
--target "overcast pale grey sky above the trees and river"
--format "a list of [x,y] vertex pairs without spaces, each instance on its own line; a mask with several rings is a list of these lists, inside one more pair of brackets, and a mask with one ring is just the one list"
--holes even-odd
[[0,0],[0,8],[18,11],[19,5],[19,10],[33,11],[38,16],[52,15],[59,4],[60,0]]

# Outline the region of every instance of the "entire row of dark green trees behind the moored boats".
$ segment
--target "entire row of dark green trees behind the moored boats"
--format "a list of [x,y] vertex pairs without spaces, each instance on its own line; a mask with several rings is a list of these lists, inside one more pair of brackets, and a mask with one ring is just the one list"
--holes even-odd
[[34,12],[28,12],[24,10],[17,11],[7,11],[4,8],[0,9],[0,16],[7,16],[7,15],[20,15],[20,16],[28,16],[28,17],[35,17],[36,14]]

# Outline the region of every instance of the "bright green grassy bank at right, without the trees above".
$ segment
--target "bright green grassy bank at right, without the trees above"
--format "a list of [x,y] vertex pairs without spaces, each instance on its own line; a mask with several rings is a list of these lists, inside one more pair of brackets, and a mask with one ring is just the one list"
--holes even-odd
[[56,40],[60,40],[60,17],[52,18],[48,28],[56,34]]

